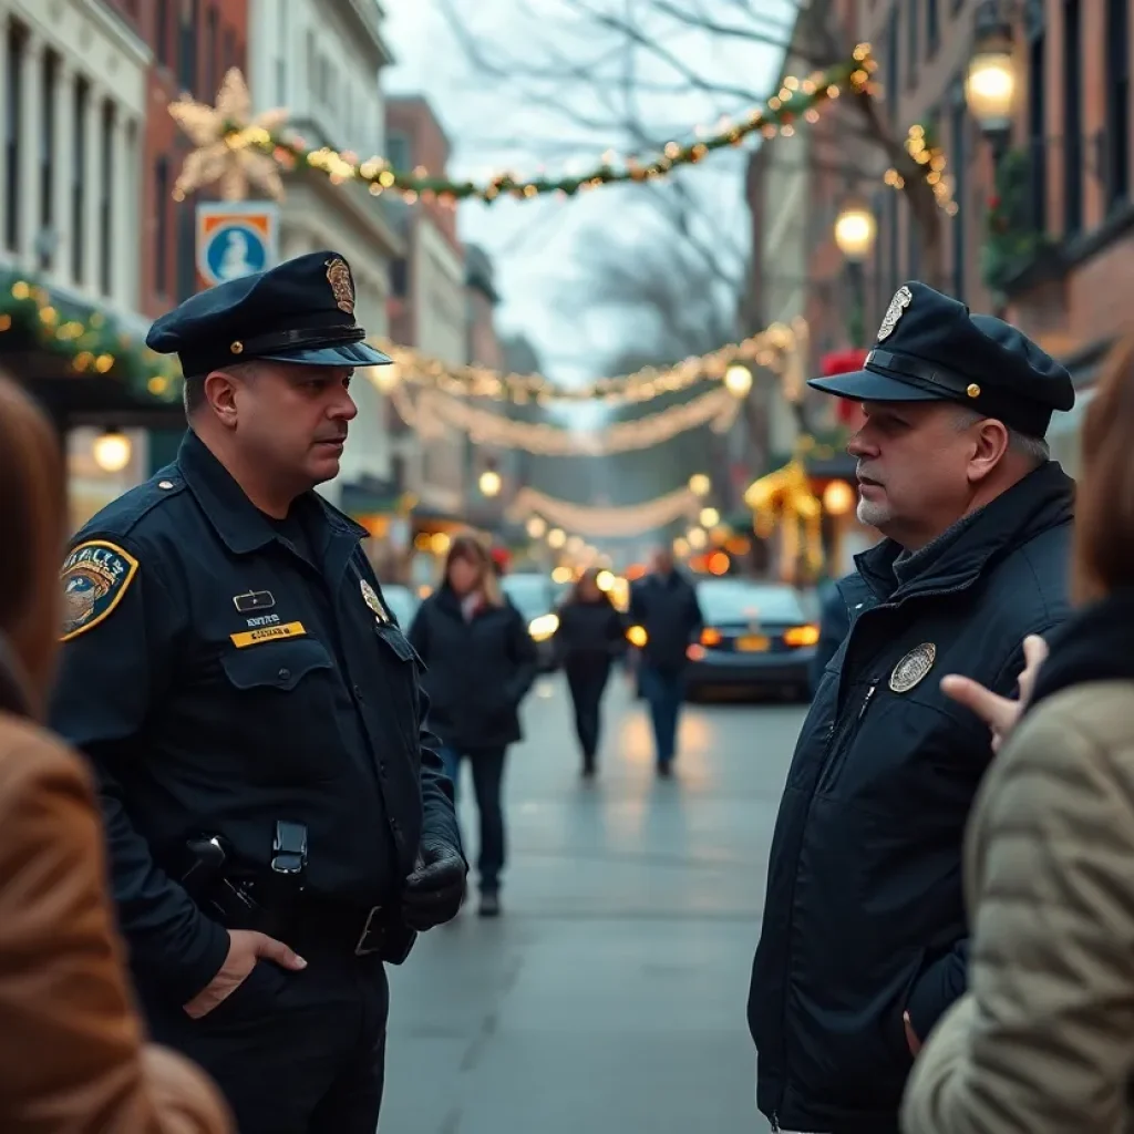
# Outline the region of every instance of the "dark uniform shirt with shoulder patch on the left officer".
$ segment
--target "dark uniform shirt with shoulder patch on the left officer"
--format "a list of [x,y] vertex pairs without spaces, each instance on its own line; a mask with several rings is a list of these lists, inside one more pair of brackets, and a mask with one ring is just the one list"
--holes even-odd
[[266,870],[276,822],[304,823],[308,889],[361,907],[396,899],[423,830],[459,847],[363,535],[314,492],[270,519],[191,432],[65,560],[52,725],[99,775],[135,966],[181,1002],[228,948],[170,879],[187,838]]

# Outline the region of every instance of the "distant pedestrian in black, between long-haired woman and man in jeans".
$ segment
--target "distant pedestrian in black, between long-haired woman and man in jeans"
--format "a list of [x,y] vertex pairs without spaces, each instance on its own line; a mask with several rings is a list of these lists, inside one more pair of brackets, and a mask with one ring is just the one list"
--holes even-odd
[[556,658],[567,675],[575,706],[575,731],[583,750],[583,776],[594,776],[599,750],[602,694],[610,678],[610,666],[626,648],[623,616],[599,587],[596,568],[585,570],[570,598],[559,608],[556,631]]

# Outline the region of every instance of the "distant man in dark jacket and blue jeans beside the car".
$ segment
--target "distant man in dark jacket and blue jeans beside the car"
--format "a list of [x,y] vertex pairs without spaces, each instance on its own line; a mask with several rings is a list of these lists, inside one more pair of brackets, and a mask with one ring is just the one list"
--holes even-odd
[[629,619],[645,632],[638,688],[650,706],[658,775],[668,777],[685,700],[686,651],[704,624],[696,591],[674,565],[668,548],[654,552],[653,570],[631,587]]

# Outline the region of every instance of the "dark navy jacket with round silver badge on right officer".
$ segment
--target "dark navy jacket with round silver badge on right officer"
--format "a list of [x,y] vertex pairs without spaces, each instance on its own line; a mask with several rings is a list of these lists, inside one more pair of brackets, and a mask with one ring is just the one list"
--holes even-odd
[[962,844],[991,747],[940,678],[1015,693],[1024,637],[1068,613],[1073,494],[1049,463],[908,565],[886,540],[839,584],[850,632],[788,772],[748,996],[773,1126],[896,1132],[903,1012],[924,1039],[964,991]]

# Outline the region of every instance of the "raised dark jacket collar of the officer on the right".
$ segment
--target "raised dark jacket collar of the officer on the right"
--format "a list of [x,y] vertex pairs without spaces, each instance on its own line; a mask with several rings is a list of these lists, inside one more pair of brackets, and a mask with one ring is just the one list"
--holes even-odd
[[[1049,460],[915,556],[904,556],[898,543],[883,540],[855,556],[855,566],[885,602],[925,592],[960,591],[997,557],[1048,528],[1069,523],[1074,500],[1075,482],[1057,462]],[[895,569],[898,559],[904,561]]]

